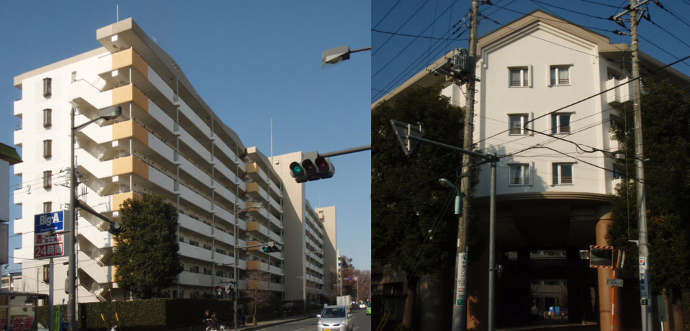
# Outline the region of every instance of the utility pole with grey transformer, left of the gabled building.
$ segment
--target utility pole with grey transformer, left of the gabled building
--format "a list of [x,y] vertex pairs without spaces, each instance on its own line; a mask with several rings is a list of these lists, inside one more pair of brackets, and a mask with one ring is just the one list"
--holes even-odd
[[[479,1],[472,0],[472,20],[470,26],[470,65],[469,65],[469,81],[467,82],[467,107],[465,109],[464,121],[464,136],[462,141],[462,148],[465,150],[472,149],[472,133],[473,133],[473,117],[475,104],[475,73],[476,73],[476,59],[477,59],[477,16],[479,15]],[[470,155],[463,154],[462,156],[462,174],[469,172]],[[464,197],[462,198],[462,215],[457,224],[457,250],[455,259],[455,300],[453,302],[453,331],[464,331],[467,327],[467,221],[470,212],[470,179],[467,176],[462,177],[460,185]],[[491,267],[490,267],[491,268]]]

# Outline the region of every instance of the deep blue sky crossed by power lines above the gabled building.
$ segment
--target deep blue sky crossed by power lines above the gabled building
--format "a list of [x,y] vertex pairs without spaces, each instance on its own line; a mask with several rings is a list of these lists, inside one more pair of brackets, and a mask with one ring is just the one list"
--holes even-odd
[[[611,38],[612,43],[631,42],[629,36],[614,34],[613,30],[622,30],[622,27],[607,20],[608,17],[622,12],[630,3],[629,0],[491,2],[492,5],[480,6],[480,12],[486,18],[480,19],[479,37],[539,9],[603,34]],[[640,22],[639,45],[642,52],[664,63],[671,63],[690,55],[690,41],[687,39],[690,33],[690,1],[661,2],[666,10],[650,4],[651,22],[644,19]],[[380,99],[383,94],[393,90],[453,48],[469,48],[469,28],[466,26],[469,25],[470,10],[469,0],[374,1],[371,14],[371,102]],[[455,23],[463,18],[465,21],[461,25],[465,26],[454,27]],[[629,15],[626,18],[629,19]],[[629,23],[627,26],[630,26]],[[460,30],[453,33],[457,28]],[[460,32],[462,34],[458,37],[457,34]],[[690,61],[686,62],[690,64]],[[690,74],[690,66],[683,63],[678,63],[673,68]]]

